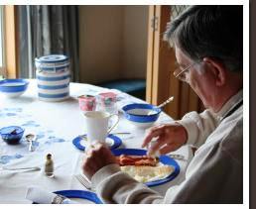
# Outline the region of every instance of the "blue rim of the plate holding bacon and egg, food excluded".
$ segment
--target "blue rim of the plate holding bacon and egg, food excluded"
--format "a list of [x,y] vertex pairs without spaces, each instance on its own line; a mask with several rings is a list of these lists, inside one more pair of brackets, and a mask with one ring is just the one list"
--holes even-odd
[[[112,153],[115,156],[121,156],[121,155],[145,156],[147,154],[147,151],[139,150],[139,149],[117,149],[117,150],[113,150]],[[175,179],[176,176],[180,173],[180,166],[174,158],[168,157],[168,156],[161,156],[159,159],[160,159],[160,162],[162,162],[163,164],[173,166],[175,168],[175,170],[166,178],[146,182],[145,184],[147,186],[158,186],[163,183],[169,182],[169,181]]]

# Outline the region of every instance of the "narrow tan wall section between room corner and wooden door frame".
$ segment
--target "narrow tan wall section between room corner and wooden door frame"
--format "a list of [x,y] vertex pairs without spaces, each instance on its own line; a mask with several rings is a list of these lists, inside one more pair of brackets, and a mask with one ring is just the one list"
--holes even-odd
[[124,9],[123,77],[146,77],[148,10],[148,6],[126,6]]

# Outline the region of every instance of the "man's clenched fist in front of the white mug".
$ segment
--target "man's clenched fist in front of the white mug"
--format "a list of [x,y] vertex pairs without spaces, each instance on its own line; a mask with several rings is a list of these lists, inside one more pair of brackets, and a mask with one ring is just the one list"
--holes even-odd
[[98,143],[90,146],[86,151],[82,163],[82,172],[88,179],[91,179],[92,175],[101,167],[112,163],[116,163],[116,158],[106,146]]

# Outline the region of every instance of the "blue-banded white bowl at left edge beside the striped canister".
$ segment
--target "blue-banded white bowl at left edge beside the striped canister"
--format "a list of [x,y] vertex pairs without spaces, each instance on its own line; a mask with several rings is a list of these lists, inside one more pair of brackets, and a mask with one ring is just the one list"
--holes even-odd
[[4,79],[0,81],[0,92],[7,97],[18,97],[28,88],[29,81],[25,79]]

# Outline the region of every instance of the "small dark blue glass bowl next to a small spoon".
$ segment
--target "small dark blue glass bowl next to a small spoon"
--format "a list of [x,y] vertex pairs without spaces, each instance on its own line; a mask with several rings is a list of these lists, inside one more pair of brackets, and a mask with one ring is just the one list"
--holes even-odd
[[0,134],[7,144],[15,145],[20,142],[23,137],[24,129],[19,126],[9,126],[0,129]]

